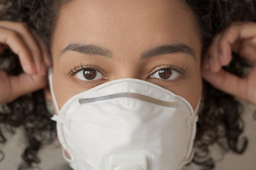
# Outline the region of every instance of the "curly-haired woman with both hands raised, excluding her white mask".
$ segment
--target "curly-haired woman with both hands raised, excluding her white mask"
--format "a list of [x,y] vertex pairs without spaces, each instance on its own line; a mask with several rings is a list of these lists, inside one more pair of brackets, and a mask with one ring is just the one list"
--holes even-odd
[[[182,96],[194,110],[203,95],[193,161],[213,168],[211,144],[235,153],[246,149],[247,140],[239,147],[240,104],[231,95],[256,104],[255,67],[246,80],[235,76],[244,77],[244,68],[250,67],[239,55],[255,61],[255,6],[255,1],[221,0],[7,1],[1,20],[23,21],[29,28],[1,21],[1,42],[19,57],[10,57],[13,52],[2,45],[2,62],[10,63],[5,71],[19,76],[1,72],[0,103],[8,103],[1,123],[25,127],[29,144],[23,158],[30,166],[38,162],[41,143],[52,140],[47,133],[54,132],[42,98],[45,94],[48,102],[53,97],[45,87],[47,67],[53,68],[55,110],[105,82],[141,79]],[[201,73],[209,83],[202,83]],[[41,88],[44,94],[36,91]]]

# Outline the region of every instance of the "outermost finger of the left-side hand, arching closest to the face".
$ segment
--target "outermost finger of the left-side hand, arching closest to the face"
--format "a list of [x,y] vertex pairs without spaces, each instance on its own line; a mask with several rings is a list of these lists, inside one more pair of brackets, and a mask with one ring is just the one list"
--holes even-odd
[[20,34],[20,36],[23,38],[23,41],[26,42],[30,53],[32,54],[38,73],[41,75],[46,74],[46,67],[42,57],[42,51],[26,23],[0,21],[0,26],[9,28],[13,31],[17,31]]

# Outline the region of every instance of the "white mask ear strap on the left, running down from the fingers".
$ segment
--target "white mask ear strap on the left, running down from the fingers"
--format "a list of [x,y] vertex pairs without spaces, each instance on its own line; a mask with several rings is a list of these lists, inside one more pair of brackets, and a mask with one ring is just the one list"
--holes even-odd
[[56,109],[56,111],[58,113],[58,115],[53,115],[51,119],[55,120],[56,122],[63,123],[64,125],[67,125],[67,127],[70,127],[70,121],[59,110],[58,104],[57,104],[57,101],[56,101],[56,98],[55,98],[55,95],[54,95],[53,85],[52,85],[52,68],[48,69],[48,78],[49,78],[50,91],[51,91],[51,94],[52,94],[52,101],[53,101],[55,109]]

